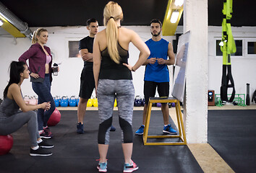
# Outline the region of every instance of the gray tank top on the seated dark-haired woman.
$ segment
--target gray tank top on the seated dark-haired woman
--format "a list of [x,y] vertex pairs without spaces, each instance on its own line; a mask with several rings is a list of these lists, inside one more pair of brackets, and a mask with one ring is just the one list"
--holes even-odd
[[16,114],[20,110],[14,99],[4,98],[0,105],[0,121]]

